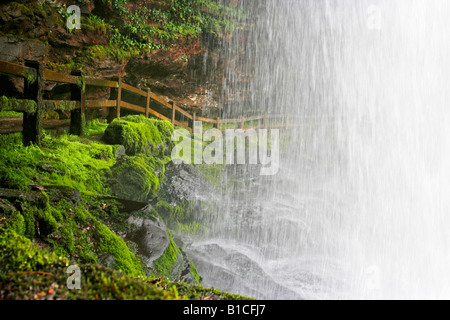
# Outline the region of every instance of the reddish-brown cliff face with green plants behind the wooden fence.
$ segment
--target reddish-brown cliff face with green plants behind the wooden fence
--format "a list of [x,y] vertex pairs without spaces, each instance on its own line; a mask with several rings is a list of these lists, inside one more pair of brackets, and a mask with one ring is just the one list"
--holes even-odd
[[[80,30],[66,26],[67,6],[74,1],[7,1],[0,5],[0,59],[38,60],[47,69],[81,69],[101,78],[122,76],[187,109],[221,107],[213,97],[220,91],[224,63],[211,43],[220,43],[224,33],[206,24],[211,18],[205,8],[183,1],[76,1]],[[20,79],[0,77],[0,95],[20,97],[22,90]],[[49,99],[69,94],[61,85],[47,84],[46,90]],[[105,99],[109,91],[88,88],[87,94]]]

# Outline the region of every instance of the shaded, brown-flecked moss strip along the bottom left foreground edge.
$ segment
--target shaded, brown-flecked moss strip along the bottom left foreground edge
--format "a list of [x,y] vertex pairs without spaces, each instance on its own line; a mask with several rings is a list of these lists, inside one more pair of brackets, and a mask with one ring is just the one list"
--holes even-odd
[[[0,299],[10,300],[182,300],[174,285],[159,287],[100,265],[80,265],[81,289],[67,287],[67,268],[0,275]],[[7,290],[5,290],[7,289]]]

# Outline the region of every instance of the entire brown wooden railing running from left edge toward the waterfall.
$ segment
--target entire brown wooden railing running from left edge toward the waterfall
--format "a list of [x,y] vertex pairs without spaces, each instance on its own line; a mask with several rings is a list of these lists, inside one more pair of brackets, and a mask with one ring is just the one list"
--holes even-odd
[[[150,89],[141,90],[128,85],[119,77],[117,80],[105,80],[93,77],[85,77],[81,72],[74,71],[72,74],[62,74],[51,70],[44,70],[39,62],[26,62],[25,65],[18,65],[0,60],[0,74],[8,76],[22,77],[25,79],[24,100],[35,102],[35,110],[16,107],[14,110],[24,113],[23,136],[25,144],[40,144],[42,136],[42,116],[46,110],[65,110],[71,112],[70,133],[75,135],[84,134],[84,115],[89,108],[114,108],[115,117],[120,118],[122,108],[145,114],[146,117],[170,121],[174,126],[184,128],[190,132],[194,131],[197,121],[212,124],[218,129],[226,129],[231,125],[248,130],[257,128],[291,128],[292,122],[288,116],[282,116],[281,121],[273,121],[276,116],[269,116],[267,113],[261,116],[240,118],[240,119],[210,119],[191,114],[178,107],[173,102],[168,102],[168,98],[153,93]],[[44,81],[65,83],[71,85],[71,99],[66,100],[43,100]],[[111,88],[117,96],[110,100],[86,100],[86,86]],[[135,105],[123,100],[124,92],[134,96],[142,97],[145,105]],[[27,101],[23,101],[26,103]],[[158,105],[158,108],[154,106]],[[0,111],[2,106],[0,105]],[[159,111],[155,110],[158,109]],[[164,115],[161,110],[165,110]],[[184,119],[187,121],[180,121]],[[178,119],[178,120],[177,120]],[[256,124],[255,124],[256,123]]]

